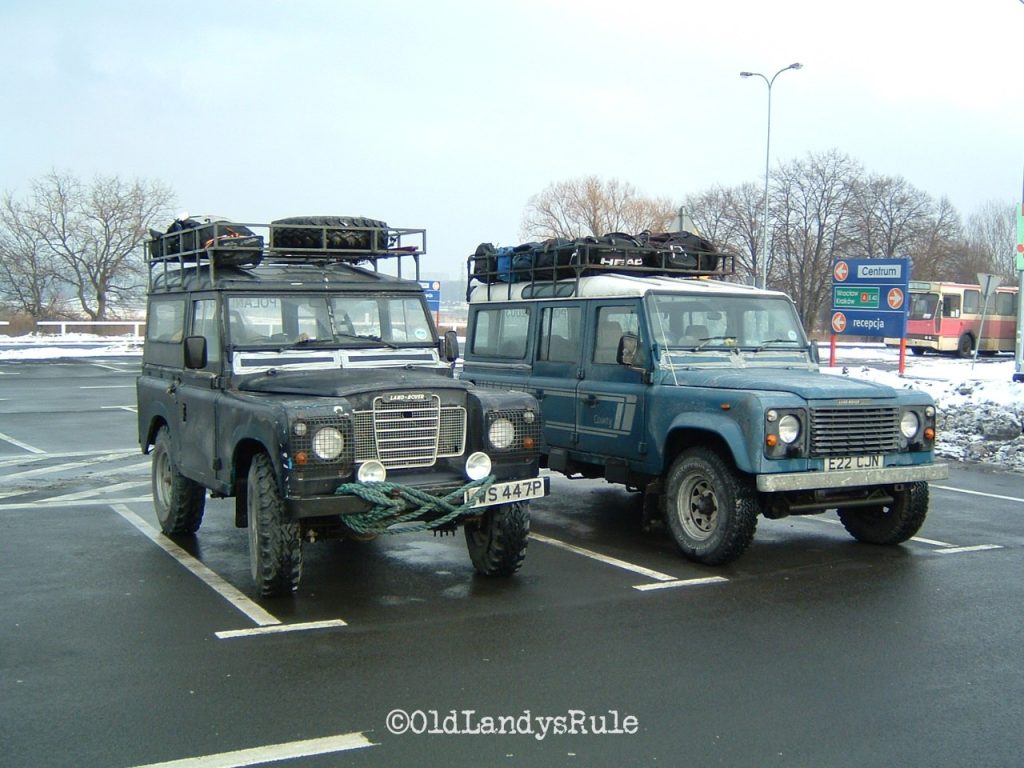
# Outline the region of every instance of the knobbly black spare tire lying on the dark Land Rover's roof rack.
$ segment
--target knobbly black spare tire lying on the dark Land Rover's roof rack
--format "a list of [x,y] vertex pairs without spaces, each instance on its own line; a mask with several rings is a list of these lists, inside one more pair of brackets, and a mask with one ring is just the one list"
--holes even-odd
[[270,247],[279,251],[333,254],[386,251],[391,245],[387,222],[365,216],[292,216],[270,222]]

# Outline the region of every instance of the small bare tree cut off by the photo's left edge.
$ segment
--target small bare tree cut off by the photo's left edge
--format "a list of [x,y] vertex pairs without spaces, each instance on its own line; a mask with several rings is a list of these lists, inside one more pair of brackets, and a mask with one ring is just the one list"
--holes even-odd
[[34,319],[56,315],[61,303],[56,259],[30,224],[30,212],[9,194],[0,208],[0,301]]

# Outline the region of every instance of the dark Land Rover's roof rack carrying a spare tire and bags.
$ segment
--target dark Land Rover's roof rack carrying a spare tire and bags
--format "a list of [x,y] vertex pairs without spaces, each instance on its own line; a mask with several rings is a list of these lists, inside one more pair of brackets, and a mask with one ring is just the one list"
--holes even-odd
[[269,224],[193,217],[176,220],[166,232],[151,229],[150,234],[145,248],[150,290],[160,275],[161,288],[166,289],[191,271],[208,269],[215,283],[218,267],[260,264],[350,264],[378,271],[381,260],[397,259],[396,276],[402,278],[402,257],[413,260],[414,274],[408,279],[418,281],[427,241],[426,229],[333,216],[280,219]]

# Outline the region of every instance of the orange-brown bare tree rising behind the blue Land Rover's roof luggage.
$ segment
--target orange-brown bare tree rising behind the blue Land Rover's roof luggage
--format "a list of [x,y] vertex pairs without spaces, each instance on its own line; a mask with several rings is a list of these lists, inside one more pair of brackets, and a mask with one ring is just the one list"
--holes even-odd
[[523,211],[523,239],[601,237],[607,232],[665,231],[676,211],[666,198],[647,198],[630,183],[587,176],[549,184]]

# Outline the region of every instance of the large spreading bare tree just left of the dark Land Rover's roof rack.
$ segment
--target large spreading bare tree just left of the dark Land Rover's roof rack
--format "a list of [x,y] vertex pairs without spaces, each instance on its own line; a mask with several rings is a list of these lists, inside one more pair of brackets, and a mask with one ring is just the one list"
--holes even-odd
[[53,171],[33,183],[23,215],[2,223],[7,237],[52,257],[82,311],[103,319],[113,304],[138,292],[142,241],[150,224],[166,217],[171,197],[155,181],[109,176],[86,185]]

